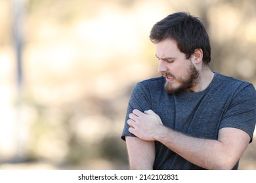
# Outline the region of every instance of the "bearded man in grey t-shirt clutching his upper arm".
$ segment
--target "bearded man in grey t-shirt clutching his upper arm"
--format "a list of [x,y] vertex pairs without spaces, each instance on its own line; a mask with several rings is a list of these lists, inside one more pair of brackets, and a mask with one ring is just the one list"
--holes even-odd
[[253,140],[252,84],[211,71],[209,37],[186,12],[150,32],[162,76],[139,82],[121,138],[131,169],[238,169]]

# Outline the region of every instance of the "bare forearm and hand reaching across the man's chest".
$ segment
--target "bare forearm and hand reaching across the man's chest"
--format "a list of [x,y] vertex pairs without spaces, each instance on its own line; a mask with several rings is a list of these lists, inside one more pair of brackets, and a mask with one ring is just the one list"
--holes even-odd
[[159,141],[191,163],[205,169],[232,169],[250,137],[240,129],[224,127],[217,140],[200,139],[165,127],[152,110],[133,110],[129,131],[145,141]]

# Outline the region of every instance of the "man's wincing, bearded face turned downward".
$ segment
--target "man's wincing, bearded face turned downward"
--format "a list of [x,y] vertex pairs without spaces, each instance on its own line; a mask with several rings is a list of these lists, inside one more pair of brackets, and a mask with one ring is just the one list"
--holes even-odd
[[192,63],[193,55],[186,59],[186,55],[171,39],[156,44],[156,58],[159,60],[158,72],[165,77],[167,93],[193,91],[199,82],[199,72]]

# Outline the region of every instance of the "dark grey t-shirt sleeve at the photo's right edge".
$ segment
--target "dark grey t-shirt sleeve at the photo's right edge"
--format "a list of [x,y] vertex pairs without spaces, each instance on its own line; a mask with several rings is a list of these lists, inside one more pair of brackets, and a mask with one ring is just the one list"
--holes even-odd
[[[235,92],[220,128],[234,127],[249,134],[253,140],[256,123],[256,91],[252,84],[244,82]],[[251,142],[250,141],[250,142]]]

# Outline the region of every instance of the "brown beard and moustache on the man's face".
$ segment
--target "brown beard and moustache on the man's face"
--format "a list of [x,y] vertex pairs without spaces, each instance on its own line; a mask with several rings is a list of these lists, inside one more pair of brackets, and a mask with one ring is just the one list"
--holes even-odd
[[171,73],[163,73],[163,76],[172,76],[175,80],[179,82],[179,86],[175,87],[171,82],[165,82],[165,90],[167,93],[177,93],[177,92],[184,92],[189,88],[196,86],[199,82],[199,72],[196,70],[196,67],[193,64],[190,64],[190,68],[187,71],[186,78],[175,78],[175,76],[171,75]]

